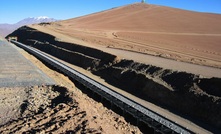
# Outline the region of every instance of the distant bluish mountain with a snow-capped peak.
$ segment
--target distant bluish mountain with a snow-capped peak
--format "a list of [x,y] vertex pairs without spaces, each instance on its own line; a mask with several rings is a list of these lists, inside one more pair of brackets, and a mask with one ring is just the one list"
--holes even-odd
[[0,36],[5,37],[14,30],[16,30],[17,28],[24,25],[37,24],[42,22],[54,22],[54,21],[57,20],[46,16],[40,16],[40,17],[25,18],[15,24],[0,24]]

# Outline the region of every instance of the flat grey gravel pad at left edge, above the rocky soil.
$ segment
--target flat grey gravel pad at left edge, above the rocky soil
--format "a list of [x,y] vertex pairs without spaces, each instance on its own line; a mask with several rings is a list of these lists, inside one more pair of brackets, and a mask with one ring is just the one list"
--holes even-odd
[[0,87],[50,85],[54,81],[7,41],[0,42]]

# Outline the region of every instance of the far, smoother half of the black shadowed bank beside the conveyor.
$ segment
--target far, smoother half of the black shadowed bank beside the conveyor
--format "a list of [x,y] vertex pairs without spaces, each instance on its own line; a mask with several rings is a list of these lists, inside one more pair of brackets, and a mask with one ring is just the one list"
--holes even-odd
[[19,42],[35,47],[84,69],[93,70],[109,66],[116,60],[114,55],[94,48],[61,42],[54,36],[41,33],[29,27],[22,27],[12,35],[18,36]]

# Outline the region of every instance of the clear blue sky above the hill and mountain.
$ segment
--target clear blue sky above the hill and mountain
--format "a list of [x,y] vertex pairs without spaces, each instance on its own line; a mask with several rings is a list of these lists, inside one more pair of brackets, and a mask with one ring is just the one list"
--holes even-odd
[[[141,0],[1,0],[0,23],[16,23],[27,17],[69,19]],[[146,0],[149,4],[221,14],[221,0]]]

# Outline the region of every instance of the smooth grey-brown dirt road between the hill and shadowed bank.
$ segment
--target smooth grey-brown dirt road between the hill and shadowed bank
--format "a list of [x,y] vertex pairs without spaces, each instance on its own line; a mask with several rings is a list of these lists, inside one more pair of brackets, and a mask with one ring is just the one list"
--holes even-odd
[[112,48],[101,48],[101,49],[111,54],[118,55],[121,58],[131,59],[144,64],[151,64],[165,69],[172,69],[177,71],[185,71],[193,74],[199,74],[204,77],[221,78],[221,69],[214,67],[196,65],[196,64],[175,61],[171,59],[166,59],[142,53],[119,50],[119,49],[112,49]]

